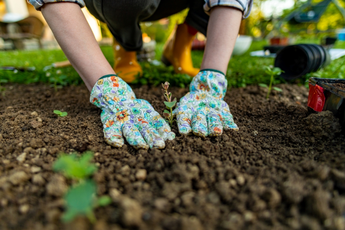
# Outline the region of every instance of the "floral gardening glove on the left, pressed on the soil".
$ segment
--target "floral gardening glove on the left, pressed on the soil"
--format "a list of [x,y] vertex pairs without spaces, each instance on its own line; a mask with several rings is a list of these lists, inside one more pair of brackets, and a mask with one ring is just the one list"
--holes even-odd
[[151,104],[136,99],[130,86],[116,75],[106,75],[97,81],[90,102],[102,109],[104,138],[111,146],[122,147],[125,137],[136,149],[162,149],[165,140],[175,138]]

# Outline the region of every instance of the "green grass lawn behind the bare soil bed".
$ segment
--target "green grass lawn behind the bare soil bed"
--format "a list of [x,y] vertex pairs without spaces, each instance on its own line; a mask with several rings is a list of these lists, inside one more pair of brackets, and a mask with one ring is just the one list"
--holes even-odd
[[[249,52],[262,49],[266,41],[254,41],[250,49],[242,56],[233,56],[229,62],[227,70],[227,79],[229,88],[246,87],[258,83],[269,83],[269,76],[264,71],[264,66],[274,63],[273,58],[250,57]],[[338,41],[335,48],[344,48],[345,43]],[[156,59],[160,60],[163,44],[159,43],[156,47]],[[101,47],[102,52],[111,65],[114,64],[112,48]],[[193,64],[200,67],[203,51],[192,52]],[[78,73],[72,67],[49,69],[43,71],[45,66],[53,62],[67,60],[61,50],[37,50],[37,51],[0,51],[0,66],[21,66],[36,67],[34,71],[17,72],[10,70],[0,70],[0,80],[17,83],[45,82],[52,87],[64,86],[69,84],[82,84]],[[295,82],[304,84],[305,80],[311,75],[325,78],[344,78],[345,57],[333,61],[329,66],[312,74],[307,74]],[[171,85],[186,87],[191,78],[186,74],[176,74],[174,69],[164,65],[154,66],[150,63],[141,63],[144,74],[137,79],[135,84],[158,85],[161,82],[168,81]],[[278,78],[274,84],[285,82]]]

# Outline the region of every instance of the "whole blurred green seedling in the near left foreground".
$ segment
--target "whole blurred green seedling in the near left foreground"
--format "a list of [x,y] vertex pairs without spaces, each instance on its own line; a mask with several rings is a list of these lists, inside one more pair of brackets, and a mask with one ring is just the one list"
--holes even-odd
[[67,210],[62,216],[64,222],[71,221],[78,215],[84,215],[94,223],[96,217],[93,209],[111,203],[109,196],[96,197],[97,185],[95,181],[89,179],[97,171],[95,164],[90,162],[92,157],[91,152],[86,152],[81,157],[77,157],[74,153],[62,154],[53,165],[54,171],[62,172],[66,178],[77,181],[65,195]]

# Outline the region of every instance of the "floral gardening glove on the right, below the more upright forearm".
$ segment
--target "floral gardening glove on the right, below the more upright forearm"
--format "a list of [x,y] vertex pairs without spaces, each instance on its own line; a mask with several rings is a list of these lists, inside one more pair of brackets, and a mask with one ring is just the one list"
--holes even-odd
[[224,130],[238,130],[228,104],[223,101],[227,80],[223,73],[202,70],[192,80],[189,91],[177,103],[178,130],[199,137],[219,136]]

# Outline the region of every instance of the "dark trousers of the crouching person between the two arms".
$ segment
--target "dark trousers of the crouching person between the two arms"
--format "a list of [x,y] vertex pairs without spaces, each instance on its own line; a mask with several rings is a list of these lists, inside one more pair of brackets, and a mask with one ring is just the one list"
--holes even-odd
[[206,35],[204,0],[85,0],[85,4],[93,16],[107,23],[127,51],[137,51],[142,46],[139,22],[166,18],[187,7],[190,10],[186,22]]

